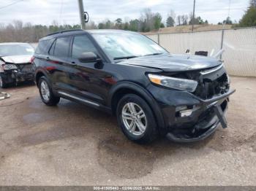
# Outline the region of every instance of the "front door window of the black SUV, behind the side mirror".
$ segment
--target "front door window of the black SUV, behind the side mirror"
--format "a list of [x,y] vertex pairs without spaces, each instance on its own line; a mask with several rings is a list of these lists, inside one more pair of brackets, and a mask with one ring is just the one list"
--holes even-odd
[[83,52],[94,52],[98,55],[96,47],[86,35],[74,36],[72,45],[72,58],[79,58]]

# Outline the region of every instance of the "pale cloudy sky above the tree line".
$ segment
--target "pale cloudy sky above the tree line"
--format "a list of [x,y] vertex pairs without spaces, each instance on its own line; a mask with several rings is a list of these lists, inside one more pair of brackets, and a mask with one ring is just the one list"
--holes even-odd
[[[159,12],[163,20],[170,9],[177,15],[189,15],[194,0],[83,0],[85,11],[90,20],[99,23],[101,20],[130,20],[140,17],[143,9],[150,8]],[[22,20],[23,23],[50,25],[53,20],[59,24],[78,24],[78,0],[0,0],[0,23],[12,23]],[[10,5],[11,4],[11,5]],[[229,12],[230,4],[230,12]],[[195,15],[217,24],[230,15],[231,20],[239,21],[244,15],[249,0],[196,0]],[[164,22],[165,23],[165,22]]]

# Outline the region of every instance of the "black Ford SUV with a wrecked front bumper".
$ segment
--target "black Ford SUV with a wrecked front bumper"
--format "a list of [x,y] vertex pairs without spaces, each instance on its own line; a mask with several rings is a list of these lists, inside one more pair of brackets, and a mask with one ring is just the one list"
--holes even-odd
[[46,105],[61,97],[116,114],[132,141],[197,141],[227,127],[234,90],[215,58],[173,55],[134,32],[75,30],[40,39],[33,63]]

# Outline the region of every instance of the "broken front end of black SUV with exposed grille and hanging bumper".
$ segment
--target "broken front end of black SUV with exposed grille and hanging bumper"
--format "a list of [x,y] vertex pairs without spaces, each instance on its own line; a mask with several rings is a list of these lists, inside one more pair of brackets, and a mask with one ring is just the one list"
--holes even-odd
[[[235,92],[230,90],[230,79],[225,68],[220,65],[213,69],[188,72],[187,77],[198,82],[197,89],[192,93],[199,104],[176,112],[176,121],[186,121],[189,117],[189,128],[173,128],[167,137],[173,141],[191,142],[206,139],[218,128],[227,128],[225,112],[229,96]],[[191,106],[190,106],[191,107]],[[196,120],[195,120],[196,119]],[[186,122],[185,122],[186,123]]]

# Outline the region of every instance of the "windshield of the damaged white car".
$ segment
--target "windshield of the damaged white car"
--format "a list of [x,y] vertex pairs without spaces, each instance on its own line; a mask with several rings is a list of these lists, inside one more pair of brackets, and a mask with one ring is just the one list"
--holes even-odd
[[34,48],[29,44],[0,45],[0,56],[7,55],[33,55]]

